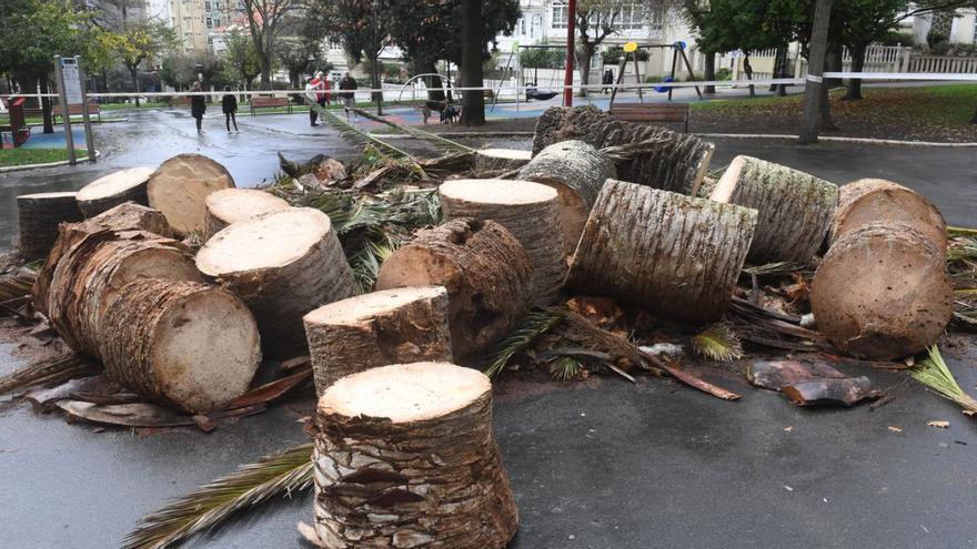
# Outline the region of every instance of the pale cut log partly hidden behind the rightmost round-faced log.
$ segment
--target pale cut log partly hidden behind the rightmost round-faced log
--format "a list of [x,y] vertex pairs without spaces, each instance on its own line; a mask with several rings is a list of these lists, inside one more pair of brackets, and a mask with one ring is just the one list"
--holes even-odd
[[926,196],[886,180],[866,179],[842,185],[832,240],[875,222],[911,225],[937,250],[946,252],[946,221]]

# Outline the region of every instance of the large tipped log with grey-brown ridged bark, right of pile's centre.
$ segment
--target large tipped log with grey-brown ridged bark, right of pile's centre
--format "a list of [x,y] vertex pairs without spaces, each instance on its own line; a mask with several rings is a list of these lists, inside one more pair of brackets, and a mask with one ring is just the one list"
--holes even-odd
[[717,321],[756,218],[756,210],[610,180],[584,227],[567,288],[679,321]]

